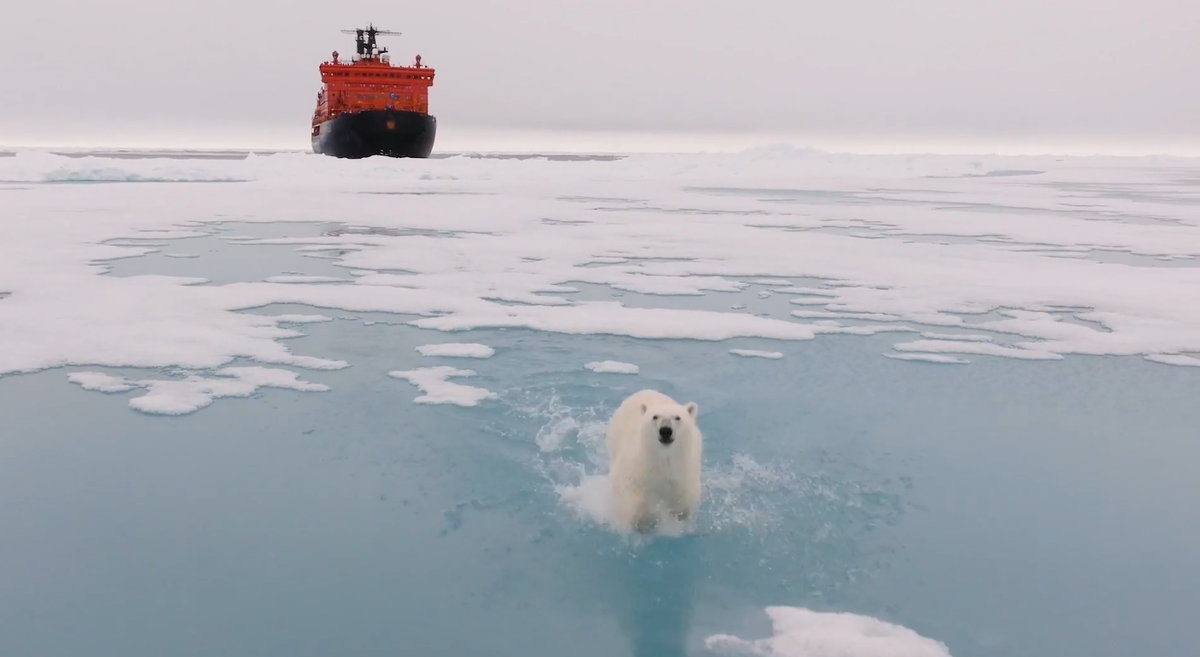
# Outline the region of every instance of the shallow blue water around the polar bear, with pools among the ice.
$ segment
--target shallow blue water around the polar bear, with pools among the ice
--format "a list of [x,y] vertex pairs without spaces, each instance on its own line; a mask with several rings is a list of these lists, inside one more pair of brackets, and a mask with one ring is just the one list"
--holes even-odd
[[[276,228],[260,234],[312,234]],[[164,249],[198,259],[113,275],[342,273],[205,240]],[[755,290],[653,299],[731,303],[792,309]],[[304,373],[324,393],[152,417],[126,405],[140,392],[88,392],[64,370],[0,379],[5,653],[704,655],[715,633],[769,635],[776,604],[883,617],[958,657],[1193,650],[1194,368],[901,362],[881,356],[894,334],[638,340],[329,314],[350,319],[292,340],[353,363]],[[413,350],[436,342],[497,354]],[[641,373],[583,368],[598,360]],[[456,381],[498,399],[414,404],[388,376],[433,364],[476,370]],[[589,436],[642,387],[700,403],[713,487],[694,536],[631,543],[563,499],[598,471]]]

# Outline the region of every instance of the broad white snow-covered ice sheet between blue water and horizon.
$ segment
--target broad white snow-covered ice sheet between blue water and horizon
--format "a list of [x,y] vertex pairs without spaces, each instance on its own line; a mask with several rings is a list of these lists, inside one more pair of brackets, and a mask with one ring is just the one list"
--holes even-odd
[[[1003,169],[1042,173],[978,176]],[[299,153],[125,161],[20,151],[0,158],[0,180],[31,183],[6,197],[0,216],[0,289],[12,293],[0,300],[0,375],[90,366],[210,370],[236,358],[348,367],[292,354],[282,340],[301,333],[245,312],[272,303],[396,313],[410,315],[403,319],[410,325],[442,331],[523,327],[703,340],[871,334],[884,330],[874,324],[900,318],[923,330],[995,331],[1028,340],[1008,348],[928,333],[922,337],[931,342],[908,343],[906,352],[1111,354],[1183,363],[1193,356],[1177,355],[1200,352],[1200,267],[1100,260],[1200,255],[1200,218],[1180,203],[1194,197],[1186,181],[1198,174],[1200,159],[1188,158],[830,157],[791,149],[614,162],[330,162]],[[220,194],[210,185],[38,185],[64,180],[244,183],[223,185]],[[869,191],[880,203],[810,201],[790,192],[797,180],[836,194]],[[1111,185],[1145,193],[1103,192]],[[416,193],[401,199],[361,193],[396,186]],[[456,193],[467,188],[473,193]],[[205,281],[102,275],[107,263],[146,253],[146,239],[228,229],[214,221],[326,222],[328,199],[335,197],[356,227],[380,230],[239,243],[312,247],[305,253],[328,253],[350,272],[271,281],[353,284],[199,285]],[[601,197],[637,200],[602,207],[562,200]],[[862,231],[878,239],[848,235]],[[943,243],[932,243],[931,235]],[[798,306],[872,325],[636,308],[572,296],[576,284],[702,295],[738,293],[749,285],[740,281],[764,279],[823,281],[769,287],[800,296],[793,300]],[[742,294],[713,306],[744,306],[746,297],[755,299]],[[1016,311],[1000,311],[1008,308]],[[1072,308],[1086,324],[1044,308]],[[964,319],[991,312],[1009,319],[978,325]],[[990,346],[962,346],[967,342]]]

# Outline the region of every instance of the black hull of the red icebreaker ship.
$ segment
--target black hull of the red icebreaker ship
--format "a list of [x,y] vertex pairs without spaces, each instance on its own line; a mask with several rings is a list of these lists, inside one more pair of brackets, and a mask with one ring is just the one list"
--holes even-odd
[[428,157],[438,120],[398,109],[346,113],[317,126],[312,151],[332,157]]

